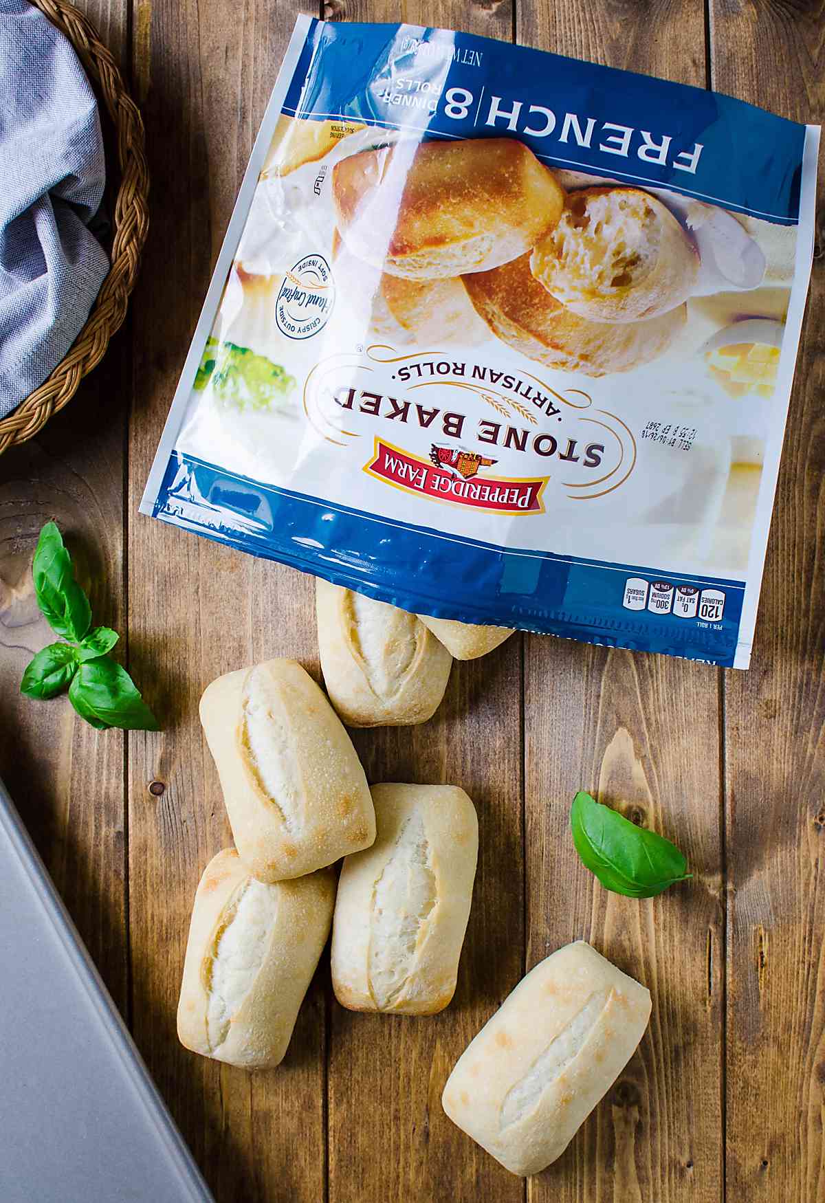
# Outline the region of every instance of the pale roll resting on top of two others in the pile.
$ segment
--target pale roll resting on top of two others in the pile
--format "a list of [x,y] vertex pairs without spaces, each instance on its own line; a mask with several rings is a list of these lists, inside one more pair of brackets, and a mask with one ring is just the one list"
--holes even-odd
[[295,660],[218,677],[201,722],[235,843],[262,882],[301,877],[375,838],[367,778],[340,719]]

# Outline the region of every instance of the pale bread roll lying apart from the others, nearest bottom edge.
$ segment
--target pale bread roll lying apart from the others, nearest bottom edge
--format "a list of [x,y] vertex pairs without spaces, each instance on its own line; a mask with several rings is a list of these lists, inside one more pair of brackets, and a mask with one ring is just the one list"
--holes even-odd
[[522,978],[470,1042],[441,1103],[514,1174],[566,1149],[633,1056],[649,991],[580,941]]

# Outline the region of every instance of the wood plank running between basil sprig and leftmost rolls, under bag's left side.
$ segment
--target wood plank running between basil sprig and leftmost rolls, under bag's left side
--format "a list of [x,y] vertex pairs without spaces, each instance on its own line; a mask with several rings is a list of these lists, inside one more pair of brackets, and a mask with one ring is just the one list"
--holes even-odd
[[195,887],[209,858],[231,843],[197,701],[213,677],[271,656],[313,668],[311,589],[296,573],[136,511],[299,10],[263,0],[136,0],[133,10],[155,206],[135,302],[131,662],[154,683],[148,692],[165,725],[129,743],[135,1036],[216,1198],[231,1203],[324,1197],[326,1002],[316,983],[277,1071],[250,1075],[177,1042]]

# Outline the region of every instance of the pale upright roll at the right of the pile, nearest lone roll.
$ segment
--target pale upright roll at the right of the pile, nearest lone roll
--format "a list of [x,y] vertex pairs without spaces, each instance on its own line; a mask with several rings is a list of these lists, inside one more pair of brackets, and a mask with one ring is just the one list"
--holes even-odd
[[479,852],[457,786],[373,786],[378,836],[344,861],[332,984],[351,1011],[432,1015],[456,989]]

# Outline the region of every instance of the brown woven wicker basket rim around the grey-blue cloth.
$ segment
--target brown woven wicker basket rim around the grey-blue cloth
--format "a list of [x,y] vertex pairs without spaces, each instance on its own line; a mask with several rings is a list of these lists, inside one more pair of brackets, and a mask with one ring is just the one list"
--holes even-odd
[[32,0],[75,47],[87,75],[106,103],[118,141],[120,188],[114,203],[114,241],[108,275],[85,326],[52,375],[7,417],[0,420],[0,455],[25,443],[75,396],[83,377],[106,354],[108,340],[126,316],[141,250],[149,227],[143,122],[114,59],[82,12],[66,0]]

